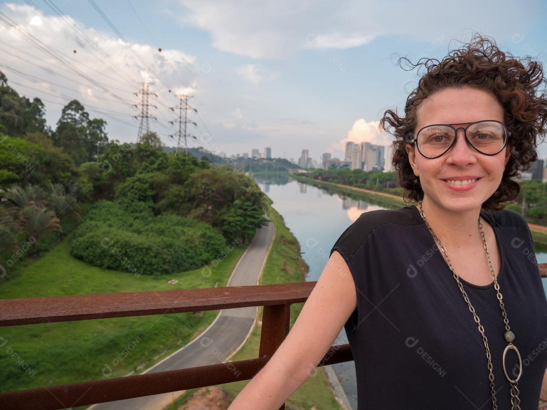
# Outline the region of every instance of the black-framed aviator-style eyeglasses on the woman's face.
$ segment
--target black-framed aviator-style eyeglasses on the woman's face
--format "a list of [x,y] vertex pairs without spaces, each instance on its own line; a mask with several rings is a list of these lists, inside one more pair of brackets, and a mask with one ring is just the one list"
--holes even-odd
[[[460,124],[469,125],[452,127]],[[511,135],[503,122],[481,120],[472,123],[430,124],[422,127],[416,138],[410,139],[409,142],[416,142],[418,152],[422,156],[429,159],[438,158],[452,148],[460,128],[463,129],[467,143],[484,155],[496,155],[501,152]],[[412,134],[409,136],[412,138]]]

